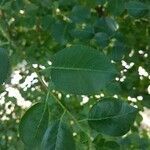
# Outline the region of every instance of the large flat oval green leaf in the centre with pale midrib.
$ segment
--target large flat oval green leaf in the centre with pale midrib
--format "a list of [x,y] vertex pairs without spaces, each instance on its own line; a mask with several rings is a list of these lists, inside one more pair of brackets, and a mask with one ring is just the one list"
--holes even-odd
[[56,53],[51,69],[51,78],[56,89],[72,94],[98,93],[116,73],[103,53],[81,45]]

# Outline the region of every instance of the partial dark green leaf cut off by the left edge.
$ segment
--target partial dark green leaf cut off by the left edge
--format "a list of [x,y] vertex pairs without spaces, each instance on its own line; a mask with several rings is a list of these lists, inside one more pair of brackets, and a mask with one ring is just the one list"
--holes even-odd
[[6,50],[0,48],[0,84],[2,84],[7,79],[9,69],[10,64]]

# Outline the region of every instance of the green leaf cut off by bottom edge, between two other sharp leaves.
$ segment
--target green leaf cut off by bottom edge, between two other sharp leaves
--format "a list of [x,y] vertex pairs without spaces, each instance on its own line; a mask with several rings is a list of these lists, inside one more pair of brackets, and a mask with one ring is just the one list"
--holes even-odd
[[61,120],[51,123],[46,130],[42,150],[75,150],[72,132]]

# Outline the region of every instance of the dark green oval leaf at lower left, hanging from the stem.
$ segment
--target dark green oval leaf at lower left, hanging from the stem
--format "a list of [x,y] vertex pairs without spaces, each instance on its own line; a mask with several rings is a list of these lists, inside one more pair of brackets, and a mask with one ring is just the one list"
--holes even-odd
[[20,137],[26,147],[37,148],[48,126],[48,109],[37,103],[26,111],[19,125]]

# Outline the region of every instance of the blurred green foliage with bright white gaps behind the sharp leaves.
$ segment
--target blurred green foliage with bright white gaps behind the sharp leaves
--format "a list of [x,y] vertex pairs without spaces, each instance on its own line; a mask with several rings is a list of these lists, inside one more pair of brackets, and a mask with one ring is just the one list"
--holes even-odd
[[[140,110],[131,131],[122,138],[92,132],[92,144],[97,150],[112,149],[112,145],[123,150],[150,149],[149,0],[0,0],[0,47],[8,51],[12,68],[7,83],[0,87],[0,150],[24,149],[19,120],[33,103],[45,99],[37,72],[47,83],[45,68],[51,65],[51,56],[79,43],[107,54],[118,75],[99,95],[55,94],[79,120],[101,97],[128,101]],[[57,114],[52,117],[62,112],[59,106],[52,111]],[[76,141],[83,141],[78,149],[89,149],[85,135],[76,133]]]

